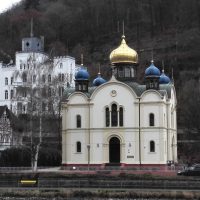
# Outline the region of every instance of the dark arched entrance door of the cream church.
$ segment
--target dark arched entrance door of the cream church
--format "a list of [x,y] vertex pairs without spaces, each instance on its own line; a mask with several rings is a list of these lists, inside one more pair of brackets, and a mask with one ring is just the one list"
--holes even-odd
[[109,141],[109,162],[120,163],[120,140],[117,137]]

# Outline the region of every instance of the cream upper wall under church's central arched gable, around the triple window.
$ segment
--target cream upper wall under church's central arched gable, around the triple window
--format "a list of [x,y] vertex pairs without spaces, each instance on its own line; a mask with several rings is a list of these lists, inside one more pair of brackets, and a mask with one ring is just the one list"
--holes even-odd
[[[115,90],[116,96],[111,92]],[[116,103],[124,108],[124,127],[135,127],[137,124],[137,110],[135,94],[120,83],[106,83],[93,93],[91,97],[91,128],[102,128],[105,125],[105,107]],[[98,119],[98,120],[97,120]]]

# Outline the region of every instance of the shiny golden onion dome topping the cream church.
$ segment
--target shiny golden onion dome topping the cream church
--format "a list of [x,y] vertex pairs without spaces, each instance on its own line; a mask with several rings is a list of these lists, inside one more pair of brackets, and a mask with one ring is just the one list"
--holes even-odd
[[110,54],[112,64],[116,63],[138,63],[138,54],[134,49],[131,49],[125,41],[125,36],[122,36],[120,46],[114,49]]

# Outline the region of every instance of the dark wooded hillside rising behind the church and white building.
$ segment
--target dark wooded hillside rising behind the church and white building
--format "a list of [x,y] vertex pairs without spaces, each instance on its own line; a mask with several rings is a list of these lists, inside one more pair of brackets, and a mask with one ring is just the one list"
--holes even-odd
[[77,63],[83,53],[91,78],[99,65],[109,77],[109,53],[121,41],[124,21],[127,43],[139,54],[139,81],[152,55],[170,77],[173,68],[178,127],[199,137],[199,0],[23,0],[0,15],[0,60],[14,59],[21,38],[30,35],[32,17],[35,36],[45,37],[45,51],[74,56]]

